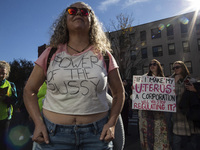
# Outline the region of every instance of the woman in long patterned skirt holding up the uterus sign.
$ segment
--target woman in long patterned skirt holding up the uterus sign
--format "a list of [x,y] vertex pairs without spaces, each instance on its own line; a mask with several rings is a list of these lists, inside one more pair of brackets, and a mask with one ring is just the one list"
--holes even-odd
[[[147,76],[164,77],[163,69],[158,60],[149,64]],[[167,124],[164,112],[139,110],[140,142],[143,150],[169,150]]]

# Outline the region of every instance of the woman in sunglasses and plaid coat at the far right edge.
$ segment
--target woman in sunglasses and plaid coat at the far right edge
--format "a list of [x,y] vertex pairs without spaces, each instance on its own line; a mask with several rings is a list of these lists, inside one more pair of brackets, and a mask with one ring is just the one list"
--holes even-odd
[[175,78],[175,93],[177,96],[177,112],[172,113],[173,150],[199,150],[200,128],[194,125],[192,118],[188,118],[188,113],[184,113],[183,107],[184,99],[186,99],[186,102],[190,101],[186,106],[187,110],[189,110],[189,105],[195,102],[195,99],[190,95],[189,97],[185,95],[185,92],[189,91],[189,93],[192,92],[192,95],[196,95],[198,102],[200,101],[200,90],[197,90],[194,86],[196,80],[190,77],[190,72],[184,62],[174,62],[173,70],[172,77]]

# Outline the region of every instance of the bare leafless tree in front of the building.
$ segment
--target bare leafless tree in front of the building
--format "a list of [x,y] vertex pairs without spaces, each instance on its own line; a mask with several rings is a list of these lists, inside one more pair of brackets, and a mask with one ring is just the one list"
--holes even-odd
[[[115,57],[122,78],[132,79],[134,69],[142,62],[141,52],[138,50],[139,38],[135,37],[136,30],[133,28],[133,15],[119,14],[116,20],[110,21],[109,33],[113,56]],[[136,61],[137,59],[137,61]]]

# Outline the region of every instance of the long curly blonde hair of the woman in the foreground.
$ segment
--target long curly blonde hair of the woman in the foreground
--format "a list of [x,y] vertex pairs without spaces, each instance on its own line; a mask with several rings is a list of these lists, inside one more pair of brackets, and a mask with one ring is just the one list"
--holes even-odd
[[[111,51],[110,41],[102,29],[102,25],[97,19],[92,8],[84,2],[76,2],[70,6],[81,3],[91,10],[91,27],[89,31],[89,42],[94,46],[96,52],[105,54],[106,50]],[[67,13],[64,10],[60,17],[52,25],[53,34],[50,39],[50,47],[57,47],[59,44],[65,44],[69,41],[69,32],[67,28]]]

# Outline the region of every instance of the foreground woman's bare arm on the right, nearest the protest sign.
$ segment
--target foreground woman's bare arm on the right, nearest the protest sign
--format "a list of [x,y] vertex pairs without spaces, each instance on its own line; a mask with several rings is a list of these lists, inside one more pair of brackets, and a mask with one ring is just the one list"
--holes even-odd
[[118,69],[110,71],[108,78],[113,101],[108,123],[104,126],[100,137],[100,140],[104,139],[105,141],[110,141],[114,138],[115,125],[125,100],[124,86],[122,84]]

